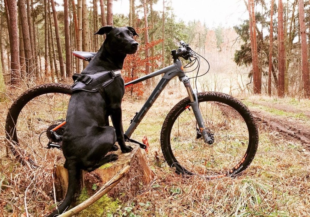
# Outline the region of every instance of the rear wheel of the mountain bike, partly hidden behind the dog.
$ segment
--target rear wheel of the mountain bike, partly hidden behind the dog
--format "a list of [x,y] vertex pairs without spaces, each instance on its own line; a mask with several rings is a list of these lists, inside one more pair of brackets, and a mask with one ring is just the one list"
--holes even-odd
[[[24,92],[9,109],[5,128],[7,139],[34,165],[52,167],[59,156],[59,150],[46,148],[49,139],[53,139],[47,131],[65,120],[70,95],[69,85],[43,84]],[[57,133],[61,135],[63,129],[58,129]],[[14,148],[11,150],[17,156],[20,153]]]

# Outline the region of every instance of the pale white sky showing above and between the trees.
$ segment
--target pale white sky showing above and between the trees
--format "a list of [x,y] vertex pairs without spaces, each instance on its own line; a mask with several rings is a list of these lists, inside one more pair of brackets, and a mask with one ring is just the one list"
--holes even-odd
[[[168,1],[166,1],[168,2]],[[232,27],[240,24],[240,20],[249,18],[243,0],[171,0],[175,15],[186,23],[190,20],[200,20],[208,28],[219,25]],[[113,13],[128,14],[129,0],[113,2]],[[162,11],[162,0],[153,6],[156,11]],[[140,17],[143,15],[141,14]]]

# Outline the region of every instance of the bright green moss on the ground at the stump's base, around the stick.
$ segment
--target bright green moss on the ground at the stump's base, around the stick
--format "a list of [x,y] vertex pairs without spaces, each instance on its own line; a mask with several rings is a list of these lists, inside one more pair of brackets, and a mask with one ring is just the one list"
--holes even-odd
[[[77,197],[76,205],[84,202],[90,196],[87,193],[87,189],[83,188],[81,194]],[[117,210],[119,206],[119,201],[113,201],[107,195],[101,197],[98,201],[96,201],[93,205],[87,207],[85,210],[80,212],[77,216],[79,217],[98,217],[105,216],[108,213],[113,213]]]

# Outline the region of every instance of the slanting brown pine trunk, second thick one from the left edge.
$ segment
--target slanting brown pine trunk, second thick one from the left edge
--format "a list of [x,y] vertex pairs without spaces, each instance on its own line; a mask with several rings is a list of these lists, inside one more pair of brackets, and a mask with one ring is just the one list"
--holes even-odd
[[25,50],[25,63],[26,63],[26,75],[27,78],[33,77],[33,62],[31,41],[29,34],[29,24],[27,19],[26,2],[25,0],[18,0],[18,7],[20,9],[20,21],[22,25],[24,50]]

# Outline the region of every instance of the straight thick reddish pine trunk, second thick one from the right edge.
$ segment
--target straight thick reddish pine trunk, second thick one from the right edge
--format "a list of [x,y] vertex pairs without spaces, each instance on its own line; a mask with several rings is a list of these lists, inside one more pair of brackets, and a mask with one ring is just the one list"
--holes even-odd
[[284,26],[283,26],[283,2],[278,3],[278,96],[283,96],[285,91],[284,74],[285,74],[285,47],[284,47]]

